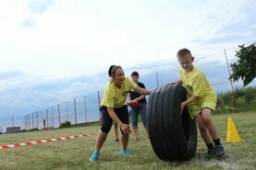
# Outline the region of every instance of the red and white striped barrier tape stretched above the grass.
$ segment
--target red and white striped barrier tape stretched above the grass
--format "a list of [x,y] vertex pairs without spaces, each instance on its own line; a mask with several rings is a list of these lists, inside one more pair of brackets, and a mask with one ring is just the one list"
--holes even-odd
[[75,135],[75,136],[67,136],[67,137],[57,137],[54,139],[46,139],[46,140],[38,140],[35,142],[20,142],[20,143],[15,143],[15,144],[4,144],[0,146],[0,150],[2,149],[8,149],[8,148],[15,148],[19,146],[29,146],[32,144],[42,144],[44,142],[57,142],[57,141],[63,141],[63,140],[71,140],[71,139],[76,139],[76,138],[81,138],[85,136],[91,136],[93,134],[80,134],[80,135]]

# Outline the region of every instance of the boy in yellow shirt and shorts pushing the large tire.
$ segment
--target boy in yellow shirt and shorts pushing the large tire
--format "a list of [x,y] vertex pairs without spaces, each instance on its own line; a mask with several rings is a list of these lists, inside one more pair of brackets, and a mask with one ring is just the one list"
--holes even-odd
[[208,147],[205,157],[224,157],[224,147],[220,142],[211,116],[216,107],[217,99],[214,89],[205,75],[193,66],[194,57],[192,57],[188,49],[179,50],[177,52],[177,60],[181,65],[180,80],[173,84],[183,84],[188,98],[181,103],[181,111],[188,106],[190,117],[196,119],[201,138]]

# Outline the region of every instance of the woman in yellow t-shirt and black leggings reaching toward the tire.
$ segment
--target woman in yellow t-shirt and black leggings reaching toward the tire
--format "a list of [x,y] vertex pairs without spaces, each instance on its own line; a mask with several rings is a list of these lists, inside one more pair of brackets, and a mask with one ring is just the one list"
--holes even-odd
[[151,91],[140,88],[133,83],[129,78],[125,77],[125,73],[121,66],[111,65],[108,74],[112,79],[104,86],[104,96],[101,101],[101,113],[103,125],[98,132],[95,149],[91,154],[89,161],[95,162],[98,160],[100,150],[107,138],[107,134],[112,127],[113,121],[120,127],[121,137],[121,154],[130,156],[128,152],[128,137],[131,132],[128,120],[127,96],[130,89],[135,90],[141,95],[150,95]]

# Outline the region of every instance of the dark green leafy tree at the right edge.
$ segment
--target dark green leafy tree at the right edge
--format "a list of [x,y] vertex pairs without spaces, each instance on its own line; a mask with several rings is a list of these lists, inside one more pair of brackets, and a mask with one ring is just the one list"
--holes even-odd
[[251,44],[248,47],[245,45],[239,45],[239,51],[236,51],[236,57],[238,61],[231,63],[231,69],[233,74],[231,78],[234,81],[242,79],[244,86],[250,84],[256,76],[256,43]]

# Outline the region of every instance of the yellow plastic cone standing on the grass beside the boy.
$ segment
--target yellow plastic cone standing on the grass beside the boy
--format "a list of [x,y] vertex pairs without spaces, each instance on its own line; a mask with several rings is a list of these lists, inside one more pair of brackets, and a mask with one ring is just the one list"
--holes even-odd
[[240,142],[241,138],[232,118],[227,119],[226,142]]

